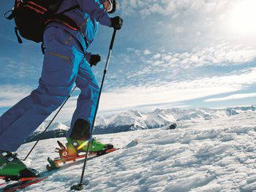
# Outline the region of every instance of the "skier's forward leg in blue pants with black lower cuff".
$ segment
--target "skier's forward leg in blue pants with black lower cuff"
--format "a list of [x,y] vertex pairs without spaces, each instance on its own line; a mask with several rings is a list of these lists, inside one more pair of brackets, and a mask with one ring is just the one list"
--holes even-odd
[[81,92],[67,136],[72,139],[87,140],[91,137],[89,133],[99,96],[99,85],[85,59],[80,63],[75,83]]

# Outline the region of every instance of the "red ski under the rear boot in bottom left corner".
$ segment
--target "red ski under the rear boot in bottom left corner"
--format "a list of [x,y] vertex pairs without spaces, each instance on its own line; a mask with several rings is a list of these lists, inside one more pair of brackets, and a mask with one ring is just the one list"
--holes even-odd
[[[5,186],[1,189],[4,192],[12,192],[17,191],[18,189],[26,188],[29,185],[33,185],[35,183],[39,183],[42,180],[45,180],[47,177],[21,177],[15,183]],[[7,177],[0,177],[2,180],[10,181]],[[1,183],[4,185],[4,183]]]

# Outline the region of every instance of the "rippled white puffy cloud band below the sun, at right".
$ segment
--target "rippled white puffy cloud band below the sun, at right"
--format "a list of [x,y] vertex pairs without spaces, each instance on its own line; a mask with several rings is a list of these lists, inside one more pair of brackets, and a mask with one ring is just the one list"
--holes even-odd
[[[127,73],[128,76],[132,75],[132,77],[140,76],[141,71],[148,71],[148,74],[152,73],[151,70],[148,70],[150,66],[154,67],[154,73],[156,73],[162,72],[163,69],[167,71],[171,69],[173,71],[173,69],[181,68],[241,65],[253,62],[256,59],[256,49],[228,43],[222,43],[214,47],[194,48],[191,52],[183,53],[170,53],[167,51],[154,53],[149,49],[135,50],[132,48],[129,48],[128,51],[135,53],[143,61],[143,64],[139,65],[139,70],[136,69],[135,72]],[[121,60],[126,61],[127,64],[138,62],[138,59],[135,60],[131,55],[133,54],[123,54],[121,55]]]

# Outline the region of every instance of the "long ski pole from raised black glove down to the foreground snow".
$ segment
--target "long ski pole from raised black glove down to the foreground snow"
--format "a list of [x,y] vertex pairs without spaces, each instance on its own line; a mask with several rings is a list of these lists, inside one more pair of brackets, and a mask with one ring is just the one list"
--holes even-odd
[[[95,122],[98,107],[99,107],[99,99],[100,99],[100,96],[101,96],[101,93],[102,93],[102,87],[103,87],[103,83],[104,83],[104,80],[105,80],[105,75],[108,71],[108,65],[110,63],[110,56],[111,56],[111,53],[112,53],[112,48],[113,48],[113,43],[114,43],[115,38],[116,38],[116,29],[114,29],[114,31],[113,31],[112,39],[111,39],[111,42],[110,42],[110,47],[109,47],[109,51],[108,51],[108,58],[107,58],[107,61],[106,61],[106,64],[105,64],[105,69],[104,69],[104,73],[103,73],[103,77],[102,77],[102,84],[100,85],[100,89],[99,89],[99,97],[98,97],[97,106],[96,106],[96,109],[95,109],[95,112],[94,112],[94,120],[92,122],[90,136],[91,136],[93,128],[94,128],[94,122]],[[87,162],[87,155],[89,153],[89,146],[90,146],[90,142],[88,143],[87,148],[86,148],[86,156],[85,156],[84,161],[83,161],[83,170],[82,170],[82,174],[81,174],[81,177],[80,177],[80,183],[78,183],[78,185],[73,185],[71,187],[71,190],[73,190],[73,189],[75,189],[76,191],[83,190],[83,175],[84,175],[84,172],[85,172],[85,169],[86,169],[86,162]]]

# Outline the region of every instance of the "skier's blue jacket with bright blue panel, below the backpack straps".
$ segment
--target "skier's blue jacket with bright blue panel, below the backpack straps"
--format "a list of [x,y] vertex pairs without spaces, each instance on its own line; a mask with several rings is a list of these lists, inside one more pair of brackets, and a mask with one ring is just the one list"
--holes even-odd
[[111,26],[111,20],[108,16],[108,12],[105,11],[103,3],[105,0],[64,0],[57,13],[62,12],[70,7],[79,5],[78,9],[73,9],[69,12],[64,12],[69,18],[75,21],[80,28],[79,31],[75,31],[62,23],[50,23],[49,26],[58,26],[68,31],[75,39],[78,39],[80,45],[83,47],[83,51],[86,55],[86,60],[89,61],[91,53],[87,53],[87,48],[94,40],[94,36],[98,31],[98,23],[103,26]]

